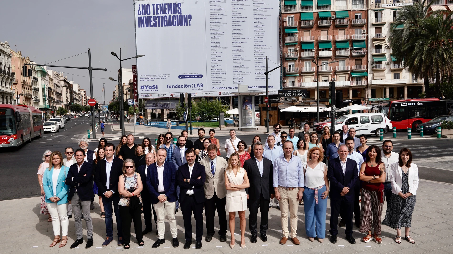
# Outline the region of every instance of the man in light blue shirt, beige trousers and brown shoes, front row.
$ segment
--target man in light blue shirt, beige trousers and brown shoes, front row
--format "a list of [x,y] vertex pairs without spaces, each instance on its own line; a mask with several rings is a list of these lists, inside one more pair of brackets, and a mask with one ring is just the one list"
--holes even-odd
[[[275,197],[280,201],[280,221],[283,231],[281,245],[286,244],[288,236],[295,245],[300,244],[296,237],[297,209],[304,193],[304,168],[302,160],[294,156],[293,151],[293,142],[286,140],[283,143],[284,156],[275,159],[272,174]],[[291,234],[288,231],[288,210],[291,216]]]

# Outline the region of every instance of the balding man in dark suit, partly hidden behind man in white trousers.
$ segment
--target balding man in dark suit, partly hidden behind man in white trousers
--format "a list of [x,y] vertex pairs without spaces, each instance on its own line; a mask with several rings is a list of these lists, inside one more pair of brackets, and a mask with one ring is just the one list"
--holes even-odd
[[146,162],[145,165],[139,166],[137,168],[137,173],[140,174],[140,178],[143,183],[143,189],[141,191],[143,204],[143,217],[145,217],[145,230],[142,232],[143,235],[153,231],[153,222],[151,220],[153,212],[154,212],[154,223],[157,224],[157,215],[156,212],[154,211],[153,205],[151,204],[148,187],[146,187],[146,176],[148,175],[148,167],[154,163],[154,153],[148,152],[145,155],[145,162]]

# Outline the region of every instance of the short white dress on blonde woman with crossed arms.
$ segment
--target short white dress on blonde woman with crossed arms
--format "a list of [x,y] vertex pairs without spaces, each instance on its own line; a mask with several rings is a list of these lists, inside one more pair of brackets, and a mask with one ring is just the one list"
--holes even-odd
[[[226,173],[228,181],[232,185],[241,185],[244,182],[245,170],[243,167],[237,171],[236,176],[234,172]],[[247,210],[247,193],[245,189],[240,190],[226,190],[226,211],[227,212],[241,212]]]

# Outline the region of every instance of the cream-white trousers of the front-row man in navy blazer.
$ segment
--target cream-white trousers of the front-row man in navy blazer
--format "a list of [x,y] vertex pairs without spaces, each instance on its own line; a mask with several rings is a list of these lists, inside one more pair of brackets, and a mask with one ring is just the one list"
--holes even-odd
[[176,224],[176,217],[174,211],[176,210],[176,202],[159,202],[157,204],[153,204],[154,210],[157,214],[157,235],[159,239],[164,239],[165,233],[165,214],[169,219],[170,224],[170,232],[173,238],[178,237],[178,224]]

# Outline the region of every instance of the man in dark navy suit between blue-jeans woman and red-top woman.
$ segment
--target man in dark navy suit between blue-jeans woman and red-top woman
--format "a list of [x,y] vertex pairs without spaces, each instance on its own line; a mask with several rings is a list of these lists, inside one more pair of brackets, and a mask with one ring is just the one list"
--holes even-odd
[[354,191],[358,181],[357,162],[347,158],[349,153],[345,144],[338,147],[338,157],[328,162],[327,176],[330,181],[330,241],[337,242],[338,215],[342,212],[342,218],[346,224],[346,240],[355,244],[352,236],[352,213],[354,211]]

